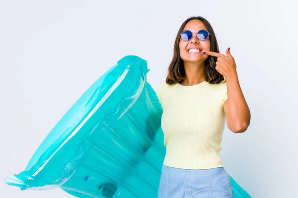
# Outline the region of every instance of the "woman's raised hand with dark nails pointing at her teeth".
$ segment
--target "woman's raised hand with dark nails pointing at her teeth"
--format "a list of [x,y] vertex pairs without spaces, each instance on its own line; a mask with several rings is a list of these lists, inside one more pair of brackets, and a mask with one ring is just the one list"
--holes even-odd
[[216,56],[218,57],[217,62],[216,62],[216,67],[215,69],[222,74],[225,78],[228,78],[229,76],[236,75],[236,63],[231,55],[230,48],[225,50],[225,54],[222,53],[217,53],[213,51],[204,51],[203,53],[206,55],[211,55],[211,56]]

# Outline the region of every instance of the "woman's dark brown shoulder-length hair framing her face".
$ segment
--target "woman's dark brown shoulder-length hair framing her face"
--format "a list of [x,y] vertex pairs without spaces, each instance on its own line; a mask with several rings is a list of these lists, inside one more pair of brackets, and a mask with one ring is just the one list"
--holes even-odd
[[[180,83],[185,79],[185,70],[184,70],[183,60],[180,57],[179,42],[181,38],[180,34],[182,33],[185,25],[191,20],[203,21],[203,23],[207,28],[207,31],[210,33],[210,51],[214,51],[218,53],[220,52],[214,30],[211,24],[205,18],[203,18],[202,16],[193,16],[186,19],[182,23],[175,39],[174,55],[168,67],[168,75],[165,80],[165,82],[169,85]],[[219,84],[224,80],[224,76],[215,69],[216,62],[217,62],[217,57],[215,56],[209,56],[205,60],[205,80],[206,82],[209,82],[211,84]]]

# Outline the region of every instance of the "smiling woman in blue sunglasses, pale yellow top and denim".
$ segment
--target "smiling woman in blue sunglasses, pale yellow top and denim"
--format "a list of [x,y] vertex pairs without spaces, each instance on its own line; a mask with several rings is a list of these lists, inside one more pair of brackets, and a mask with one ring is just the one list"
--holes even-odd
[[166,146],[158,198],[233,197],[220,144],[225,120],[232,132],[242,133],[250,110],[229,48],[225,53],[205,18],[181,25],[166,82],[156,92]]

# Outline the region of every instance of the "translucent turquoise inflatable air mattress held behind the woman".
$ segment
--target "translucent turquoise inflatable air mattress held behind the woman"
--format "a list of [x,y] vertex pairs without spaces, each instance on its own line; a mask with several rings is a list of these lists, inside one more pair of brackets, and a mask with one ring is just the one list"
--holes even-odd
[[[157,198],[165,147],[148,71],[138,56],[119,60],[56,124],[25,170],[5,182],[78,198]],[[248,198],[231,180],[235,198]]]

